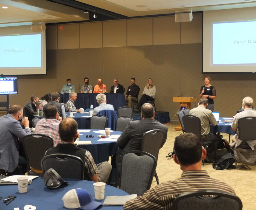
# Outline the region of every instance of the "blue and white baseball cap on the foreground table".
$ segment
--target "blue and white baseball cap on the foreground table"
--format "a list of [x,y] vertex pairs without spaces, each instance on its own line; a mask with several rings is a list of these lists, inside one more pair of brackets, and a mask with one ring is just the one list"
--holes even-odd
[[91,194],[81,188],[69,190],[61,200],[63,200],[64,206],[69,209],[94,210],[102,205],[102,203],[93,201]]

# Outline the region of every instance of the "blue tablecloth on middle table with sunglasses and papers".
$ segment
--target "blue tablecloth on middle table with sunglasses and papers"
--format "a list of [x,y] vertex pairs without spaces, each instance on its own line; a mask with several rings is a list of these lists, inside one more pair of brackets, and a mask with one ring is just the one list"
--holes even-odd
[[[104,162],[104,161],[108,161],[109,160],[109,156],[116,154],[116,150],[117,150],[117,145],[116,142],[114,141],[98,141],[101,138],[97,137],[98,135],[100,135],[100,133],[95,133],[93,131],[97,131],[97,130],[90,130],[90,132],[81,132],[80,130],[79,134],[79,141],[91,141],[92,144],[83,144],[83,145],[78,145],[78,147],[87,149],[91,154],[92,157],[94,159],[94,162],[96,164]],[[122,132],[120,131],[113,131],[110,133],[110,135],[113,134],[121,134]],[[82,134],[82,135],[81,135]],[[86,135],[92,135],[94,136],[93,138],[86,138]],[[107,138],[105,138],[107,140]]]

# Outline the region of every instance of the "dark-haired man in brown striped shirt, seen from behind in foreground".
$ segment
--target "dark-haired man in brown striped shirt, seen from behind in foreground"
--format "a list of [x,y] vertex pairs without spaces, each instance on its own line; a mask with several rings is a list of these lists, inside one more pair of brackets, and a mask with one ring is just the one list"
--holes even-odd
[[217,190],[235,194],[228,184],[211,178],[202,170],[202,160],[206,156],[206,150],[202,148],[196,135],[184,133],[177,136],[174,151],[173,160],[183,171],[181,177],[159,184],[142,196],[127,201],[124,210],[172,209],[172,202],[178,195],[199,190]]

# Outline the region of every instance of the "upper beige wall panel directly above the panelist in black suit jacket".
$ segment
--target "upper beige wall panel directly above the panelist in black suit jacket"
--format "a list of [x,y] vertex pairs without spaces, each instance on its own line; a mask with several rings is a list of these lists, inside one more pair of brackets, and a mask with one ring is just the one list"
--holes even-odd
[[103,47],[126,46],[126,20],[105,21],[103,24]]

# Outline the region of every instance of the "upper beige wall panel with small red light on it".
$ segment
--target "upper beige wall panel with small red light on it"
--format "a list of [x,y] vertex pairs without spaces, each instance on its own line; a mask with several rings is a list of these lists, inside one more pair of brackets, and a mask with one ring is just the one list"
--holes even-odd
[[58,49],[77,48],[79,48],[79,24],[58,25]]

